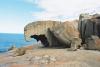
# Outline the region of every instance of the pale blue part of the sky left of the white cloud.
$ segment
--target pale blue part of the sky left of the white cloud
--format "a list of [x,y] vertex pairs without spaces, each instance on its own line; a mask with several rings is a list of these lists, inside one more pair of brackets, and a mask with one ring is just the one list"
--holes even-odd
[[32,13],[38,11],[35,4],[24,0],[0,0],[0,32],[23,33],[24,26],[34,20]]

